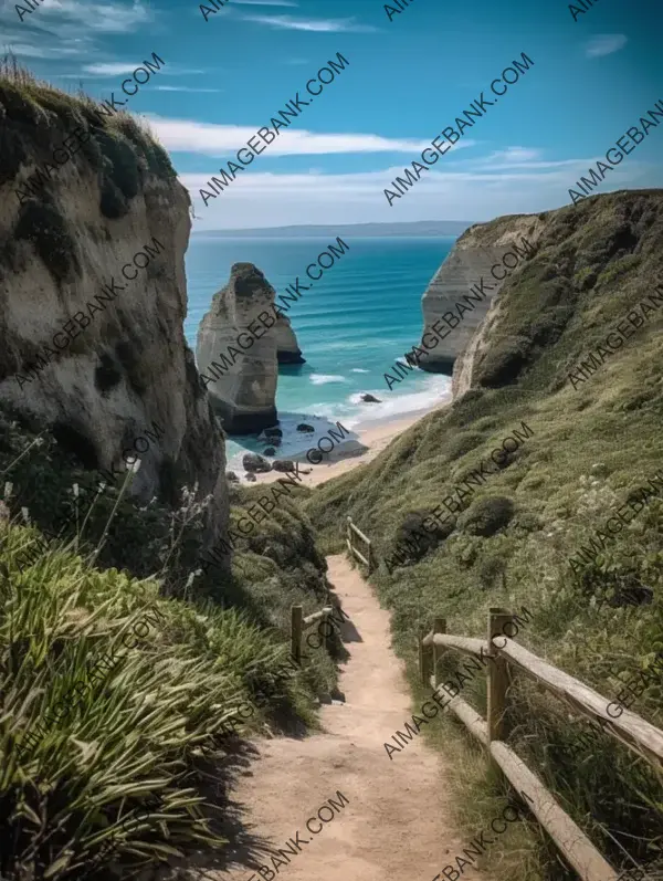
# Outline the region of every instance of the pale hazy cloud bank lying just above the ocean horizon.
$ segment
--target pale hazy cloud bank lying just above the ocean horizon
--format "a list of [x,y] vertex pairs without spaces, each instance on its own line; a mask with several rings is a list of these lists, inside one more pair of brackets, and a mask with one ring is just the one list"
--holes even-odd
[[[236,179],[207,207],[199,189],[209,175],[180,176],[189,189],[198,219],[194,230],[284,227],[291,223],[361,223],[411,220],[490,220],[499,214],[527,213],[570,203],[569,187],[587,174],[591,159],[566,160],[566,167],[484,174],[457,170],[459,162],[421,172],[421,180],[389,207],[385,188],[402,168],[378,171],[324,175],[238,172]],[[624,189],[627,185],[655,186],[644,180],[644,166],[633,161],[628,168],[607,175],[597,192]],[[663,170],[653,172],[663,182]]]

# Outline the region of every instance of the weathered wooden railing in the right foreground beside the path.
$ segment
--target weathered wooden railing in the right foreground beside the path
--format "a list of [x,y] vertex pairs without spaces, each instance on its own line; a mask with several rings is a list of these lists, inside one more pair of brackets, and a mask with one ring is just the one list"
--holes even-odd
[[[503,628],[513,617],[505,609],[491,609],[485,642],[482,639],[446,633],[446,620],[435,618],[433,630],[427,636],[421,634],[419,639],[422,680],[427,685],[433,685],[438,692],[439,649],[454,649],[476,657],[483,651],[484,658],[492,659],[486,667],[487,719],[482,719],[460,695],[451,700],[449,709],[486,747],[491,758],[504,772],[509,783],[527,795],[529,809],[582,881],[618,881],[621,877],[619,872],[603,859],[585,832],[562,810],[539,777],[504,742],[507,735],[505,710],[509,685],[508,664],[532,677],[573,711],[591,720],[601,720],[606,733],[646,759],[657,774],[663,770],[663,731],[629,710],[624,710],[619,719],[611,719],[606,710],[611,703],[609,700],[503,636]],[[502,648],[495,642],[496,638],[504,640]]]

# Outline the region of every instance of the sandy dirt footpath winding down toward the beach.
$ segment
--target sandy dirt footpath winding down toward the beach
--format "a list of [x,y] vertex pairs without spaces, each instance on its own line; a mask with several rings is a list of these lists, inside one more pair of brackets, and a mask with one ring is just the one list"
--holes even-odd
[[[242,864],[208,878],[431,881],[469,846],[471,836],[465,840],[454,831],[440,756],[422,737],[414,737],[393,761],[387,756],[383,743],[403,730],[412,712],[402,664],[390,649],[389,613],[345,556],[327,559],[329,580],[355,633],[346,642],[350,659],[339,682],[346,702],[323,706],[324,734],[255,744],[260,758],[239,778],[232,796],[245,811],[245,829],[263,842],[263,852],[252,848],[250,864],[238,853]],[[348,804],[335,812],[329,808],[334,819],[322,824],[318,809],[330,798],[339,804],[338,791]],[[306,829],[309,818],[314,830],[322,827],[316,835]],[[301,852],[291,846],[296,852],[292,856],[286,842],[297,830]],[[277,875],[264,848],[283,861]],[[277,848],[286,849],[286,857]],[[259,873],[256,864],[269,871]],[[471,868],[463,879],[488,881]]]

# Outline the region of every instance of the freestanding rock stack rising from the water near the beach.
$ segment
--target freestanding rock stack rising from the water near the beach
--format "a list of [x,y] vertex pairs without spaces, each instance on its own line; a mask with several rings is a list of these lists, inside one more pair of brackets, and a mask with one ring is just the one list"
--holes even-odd
[[198,368],[230,433],[273,426],[278,363],[303,363],[290,321],[274,308],[275,293],[253,263],[235,263],[198,328]]

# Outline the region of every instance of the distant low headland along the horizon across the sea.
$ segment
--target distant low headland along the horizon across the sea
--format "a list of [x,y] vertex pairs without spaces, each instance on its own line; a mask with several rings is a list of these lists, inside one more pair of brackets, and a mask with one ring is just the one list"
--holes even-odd
[[301,227],[263,227],[260,229],[243,230],[199,230],[192,234],[218,235],[219,238],[293,238],[306,239],[318,235],[412,235],[438,237],[460,235],[475,220],[417,220],[411,223],[339,223],[337,226],[325,223],[319,226]]

